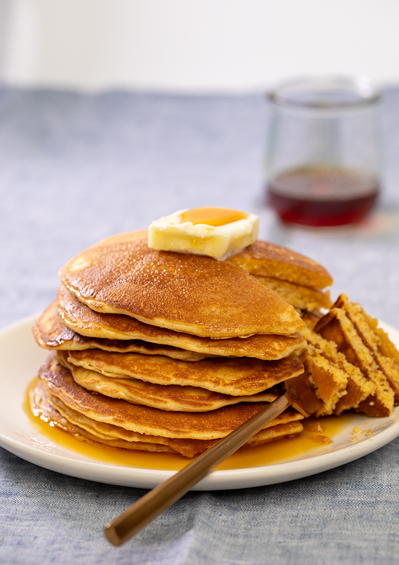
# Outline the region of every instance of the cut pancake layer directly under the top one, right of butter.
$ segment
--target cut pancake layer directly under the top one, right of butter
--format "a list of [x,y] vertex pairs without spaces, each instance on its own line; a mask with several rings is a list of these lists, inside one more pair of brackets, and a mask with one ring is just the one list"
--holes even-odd
[[302,286],[295,282],[282,281],[273,277],[254,275],[262,284],[274,290],[284,301],[301,310],[319,310],[319,308],[330,308],[332,302],[330,292],[322,292],[308,286]]

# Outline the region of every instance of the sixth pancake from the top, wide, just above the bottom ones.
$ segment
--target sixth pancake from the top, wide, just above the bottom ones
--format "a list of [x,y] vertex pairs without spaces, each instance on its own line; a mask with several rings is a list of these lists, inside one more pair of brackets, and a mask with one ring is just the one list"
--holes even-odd
[[[159,408],[139,406],[118,398],[88,392],[74,382],[71,372],[58,363],[54,354],[51,354],[47,363],[41,367],[39,377],[45,381],[50,394],[88,418],[118,425],[133,432],[162,437],[198,440],[221,438],[267,405],[265,402],[240,402],[206,414],[168,412]],[[302,418],[298,412],[288,408],[265,428]]]

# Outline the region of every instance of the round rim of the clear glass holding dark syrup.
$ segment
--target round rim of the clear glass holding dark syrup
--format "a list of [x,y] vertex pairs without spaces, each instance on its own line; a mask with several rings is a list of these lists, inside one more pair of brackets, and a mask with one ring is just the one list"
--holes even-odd
[[309,76],[281,82],[268,93],[277,106],[318,108],[353,108],[375,104],[380,91],[363,76]]

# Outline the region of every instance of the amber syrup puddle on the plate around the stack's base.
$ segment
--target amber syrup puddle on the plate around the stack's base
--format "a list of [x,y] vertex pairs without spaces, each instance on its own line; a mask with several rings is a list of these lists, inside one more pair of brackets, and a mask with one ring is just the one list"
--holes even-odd
[[[51,442],[73,451],[99,463],[113,464],[122,467],[139,467],[144,469],[157,469],[177,471],[185,467],[192,459],[180,454],[158,453],[154,451],[137,451],[126,449],[102,449],[79,441],[68,432],[55,427],[34,416],[29,407],[29,391],[36,385],[37,377],[30,383],[24,400],[24,411],[35,432],[48,438]],[[303,458],[304,454],[318,455],[324,446],[332,450],[334,437],[345,429],[351,429],[353,414],[345,416],[323,416],[323,418],[308,418],[302,420],[304,431],[293,438],[284,438],[257,447],[241,447],[223,461],[216,470],[241,469],[258,467],[274,463],[284,463],[287,460]],[[348,437],[350,432],[348,431]],[[325,453],[326,449],[322,451]],[[312,453],[313,452],[313,453]]]

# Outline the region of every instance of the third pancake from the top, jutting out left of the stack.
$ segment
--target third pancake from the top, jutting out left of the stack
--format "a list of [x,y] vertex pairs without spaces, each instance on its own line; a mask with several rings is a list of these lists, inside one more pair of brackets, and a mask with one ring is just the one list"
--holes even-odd
[[[68,290],[66,292],[69,293]],[[77,298],[73,298],[77,301]],[[89,309],[87,306],[84,307]],[[43,312],[33,325],[32,331],[38,345],[49,350],[81,351],[84,349],[103,349],[104,351],[117,351],[119,353],[134,351],[135,353],[144,353],[146,355],[167,355],[172,357],[172,359],[184,359],[186,361],[199,361],[200,359],[205,359],[205,357],[212,357],[210,354],[205,355],[195,351],[179,349],[179,347],[173,347],[172,345],[157,345],[142,340],[111,340],[81,336],[74,332],[73,329],[68,328],[64,324],[63,319],[58,315],[58,301],[52,302]]]

